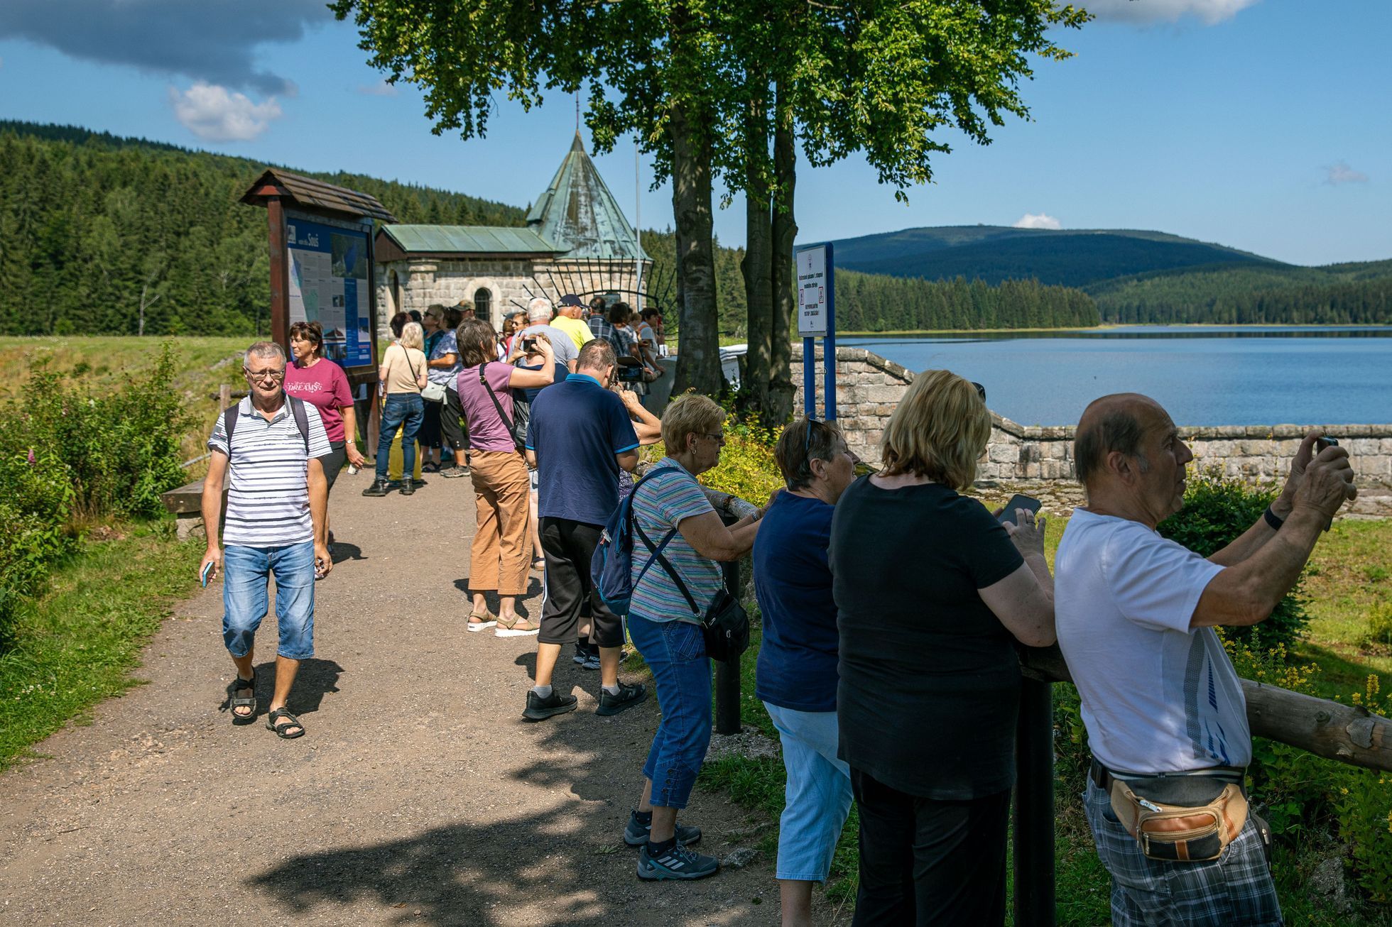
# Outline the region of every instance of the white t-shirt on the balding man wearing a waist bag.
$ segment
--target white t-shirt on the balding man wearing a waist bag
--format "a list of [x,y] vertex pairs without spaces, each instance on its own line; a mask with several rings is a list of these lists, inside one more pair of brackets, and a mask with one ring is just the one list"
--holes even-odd
[[1058,644],[1093,756],[1119,772],[1247,766],[1242,682],[1212,628],[1190,629],[1222,572],[1140,522],[1076,509],[1054,560]]

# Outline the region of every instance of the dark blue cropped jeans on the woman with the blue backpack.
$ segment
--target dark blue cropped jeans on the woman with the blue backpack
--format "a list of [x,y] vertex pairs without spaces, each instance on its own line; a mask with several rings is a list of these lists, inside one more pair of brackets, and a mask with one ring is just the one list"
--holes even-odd
[[643,775],[653,781],[653,805],[686,807],[710,746],[706,639],[689,621],[651,621],[642,615],[629,615],[628,635],[653,671],[663,711],[643,764]]

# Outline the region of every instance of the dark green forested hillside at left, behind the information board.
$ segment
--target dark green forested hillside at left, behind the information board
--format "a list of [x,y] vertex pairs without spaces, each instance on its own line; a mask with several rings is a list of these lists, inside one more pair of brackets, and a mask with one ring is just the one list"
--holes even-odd
[[[0,121],[0,334],[252,334],[269,312],[266,166]],[[294,170],[294,168],[291,168]],[[521,225],[523,210],[352,174],[404,223]]]

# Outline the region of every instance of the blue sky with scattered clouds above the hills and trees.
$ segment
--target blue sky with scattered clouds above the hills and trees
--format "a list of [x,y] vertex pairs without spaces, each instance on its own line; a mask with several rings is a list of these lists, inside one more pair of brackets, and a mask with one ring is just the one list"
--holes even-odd
[[[859,159],[798,178],[800,241],[912,225],[1155,228],[1302,264],[1392,258],[1392,3],[1094,0],[1012,120],[935,160],[909,205]],[[281,36],[263,42],[262,36]],[[317,0],[4,0],[0,118],[64,122],[303,170],[526,206],[575,129],[574,97],[498,97],[486,139],[434,136]],[[632,146],[599,159],[629,219]],[[251,180],[251,178],[248,178]],[[668,188],[642,224],[671,223]],[[739,200],[717,212],[742,244]]]

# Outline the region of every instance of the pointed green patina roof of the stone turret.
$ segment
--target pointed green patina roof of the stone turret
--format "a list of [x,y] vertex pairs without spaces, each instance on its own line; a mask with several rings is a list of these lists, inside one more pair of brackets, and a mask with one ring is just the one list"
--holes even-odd
[[614,193],[585,153],[580,134],[567,152],[551,185],[528,213],[526,225],[555,242],[564,258],[635,260],[647,259],[633,227],[624,217]]

